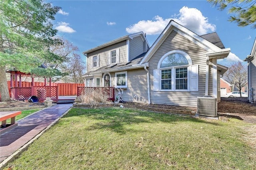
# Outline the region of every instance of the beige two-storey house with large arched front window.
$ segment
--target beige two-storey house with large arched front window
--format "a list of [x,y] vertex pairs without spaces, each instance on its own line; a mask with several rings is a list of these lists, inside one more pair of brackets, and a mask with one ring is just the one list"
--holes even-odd
[[220,101],[228,56],[216,32],[199,36],[171,20],[149,47],[143,32],[84,51],[86,87],[115,87],[124,101],[196,107],[197,97]]

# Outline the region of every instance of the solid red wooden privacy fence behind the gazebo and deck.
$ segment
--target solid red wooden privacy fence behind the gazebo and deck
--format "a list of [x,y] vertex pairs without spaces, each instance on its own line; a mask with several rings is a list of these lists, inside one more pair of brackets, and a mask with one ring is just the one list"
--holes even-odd
[[[22,81],[21,86],[18,87],[31,87],[31,82]],[[10,91],[10,81],[7,81],[9,91]],[[44,86],[44,82],[34,82],[34,86]],[[52,86],[58,86],[58,95],[59,96],[76,96],[76,90],[78,86],[84,86],[83,83],[51,83]],[[47,87],[47,86],[46,86]],[[25,89],[20,89],[20,93],[26,91]]]

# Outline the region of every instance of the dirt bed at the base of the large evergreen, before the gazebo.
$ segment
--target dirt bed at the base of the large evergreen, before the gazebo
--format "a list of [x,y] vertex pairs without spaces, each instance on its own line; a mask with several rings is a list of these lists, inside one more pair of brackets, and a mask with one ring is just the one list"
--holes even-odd
[[26,101],[7,101],[0,102],[0,108],[10,108],[10,107],[31,107],[31,106],[44,106],[44,103],[36,102],[26,102]]

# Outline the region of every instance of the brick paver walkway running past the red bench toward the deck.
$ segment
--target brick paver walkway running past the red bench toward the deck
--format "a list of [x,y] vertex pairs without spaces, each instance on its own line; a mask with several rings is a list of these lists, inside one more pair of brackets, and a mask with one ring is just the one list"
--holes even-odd
[[54,105],[17,121],[18,127],[0,135],[0,162],[29,142],[72,105],[72,103]]

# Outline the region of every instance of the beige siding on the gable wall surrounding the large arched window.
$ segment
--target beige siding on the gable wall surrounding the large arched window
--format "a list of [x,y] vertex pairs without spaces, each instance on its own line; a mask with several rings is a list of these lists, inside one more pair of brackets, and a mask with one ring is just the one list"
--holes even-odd
[[[157,65],[161,57],[172,50],[181,50],[186,52],[191,57],[192,63],[199,66],[198,91],[153,91],[153,70],[157,69]],[[148,70],[150,71],[150,98],[152,104],[196,107],[197,97],[205,95],[206,51],[175,31],[170,33],[156,53],[154,53],[150,58]]]

